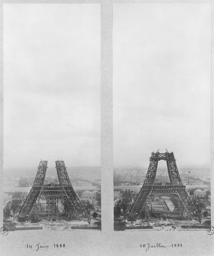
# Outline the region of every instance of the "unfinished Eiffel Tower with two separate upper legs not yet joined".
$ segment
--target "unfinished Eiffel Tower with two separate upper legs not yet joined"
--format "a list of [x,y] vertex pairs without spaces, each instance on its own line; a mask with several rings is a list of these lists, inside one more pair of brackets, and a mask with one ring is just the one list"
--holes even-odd
[[64,216],[67,221],[73,219],[90,220],[71,185],[64,161],[57,160],[56,169],[59,184],[44,184],[48,161],[40,161],[36,178],[24,204],[19,211],[22,220],[40,220],[40,200],[47,200],[48,220],[58,220],[58,200],[64,199]]

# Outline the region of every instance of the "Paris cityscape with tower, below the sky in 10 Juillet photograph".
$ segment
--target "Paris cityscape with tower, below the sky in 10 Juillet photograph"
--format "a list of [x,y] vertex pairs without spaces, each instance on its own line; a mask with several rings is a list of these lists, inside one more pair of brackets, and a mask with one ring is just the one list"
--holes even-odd
[[[164,155],[153,152],[152,156],[156,154],[159,154],[158,160]],[[211,215],[209,166],[177,169],[174,164],[167,172],[167,166],[151,166],[152,161],[154,159],[150,158],[148,172],[139,167],[114,169],[114,230],[207,229]],[[178,170],[177,175],[173,170]],[[181,182],[170,179],[170,173]]]

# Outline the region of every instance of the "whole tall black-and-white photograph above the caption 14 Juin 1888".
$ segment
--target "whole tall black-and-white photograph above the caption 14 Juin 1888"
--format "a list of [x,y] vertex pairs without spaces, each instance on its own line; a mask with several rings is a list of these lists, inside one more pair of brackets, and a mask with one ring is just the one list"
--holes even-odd
[[4,4],[4,227],[101,230],[100,5]]

